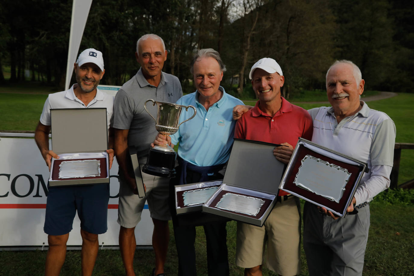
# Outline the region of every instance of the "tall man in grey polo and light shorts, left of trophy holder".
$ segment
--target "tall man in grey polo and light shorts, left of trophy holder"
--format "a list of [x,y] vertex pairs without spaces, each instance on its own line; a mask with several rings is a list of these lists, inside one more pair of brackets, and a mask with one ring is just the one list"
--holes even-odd
[[[154,120],[144,110],[147,99],[175,103],[181,96],[181,84],[177,77],[162,72],[167,59],[164,41],[155,34],[146,34],[137,41],[137,62],[141,65],[137,74],[126,82],[115,97],[113,128],[115,130],[115,154],[119,164],[120,188],[118,223],[119,246],[126,275],[135,275],[135,226],[141,220],[145,200],[154,223],[152,246],[155,252],[154,275],[164,275],[164,263],[168,249],[171,219],[168,209],[168,178],[142,173],[146,185],[146,197],[137,196],[136,182],[130,153],[137,153],[140,166],[147,161],[150,144],[158,133]],[[156,109],[152,114],[156,117]]]

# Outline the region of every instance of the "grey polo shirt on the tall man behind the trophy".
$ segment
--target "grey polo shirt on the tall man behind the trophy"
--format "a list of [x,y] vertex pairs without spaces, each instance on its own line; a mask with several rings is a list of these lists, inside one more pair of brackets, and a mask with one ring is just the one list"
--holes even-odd
[[[147,99],[176,103],[183,96],[180,81],[176,76],[161,72],[158,87],[147,82],[141,68],[137,74],[119,89],[113,104],[113,127],[129,130],[130,153],[137,152],[140,163],[147,161],[148,150],[158,132],[155,121],[144,109]],[[147,103],[147,109],[156,118],[156,106]]]

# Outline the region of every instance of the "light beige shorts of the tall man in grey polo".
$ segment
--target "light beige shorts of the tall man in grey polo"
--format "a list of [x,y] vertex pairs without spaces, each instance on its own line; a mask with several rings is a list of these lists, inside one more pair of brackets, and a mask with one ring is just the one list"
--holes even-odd
[[[142,166],[142,165],[140,165]],[[142,173],[142,180],[147,188],[143,198],[134,194],[119,173],[118,223],[125,228],[133,228],[141,221],[141,213],[148,202],[151,218],[161,221],[171,219],[168,206],[169,178]]]

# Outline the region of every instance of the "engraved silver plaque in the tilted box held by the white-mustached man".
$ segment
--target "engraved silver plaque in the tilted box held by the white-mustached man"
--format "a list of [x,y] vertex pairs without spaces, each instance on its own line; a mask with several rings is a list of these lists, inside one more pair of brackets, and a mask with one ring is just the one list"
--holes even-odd
[[335,164],[306,155],[296,174],[294,184],[339,203],[351,173]]

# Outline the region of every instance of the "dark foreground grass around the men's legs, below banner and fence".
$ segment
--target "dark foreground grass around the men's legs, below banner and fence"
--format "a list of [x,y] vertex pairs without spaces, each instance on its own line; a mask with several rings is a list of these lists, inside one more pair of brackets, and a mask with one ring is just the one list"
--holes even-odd
[[[303,202],[302,202],[303,206]],[[414,275],[414,221],[412,213],[414,205],[385,205],[374,202],[371,209],[371,227],[365,255],[363,275]],[[395,214],[398,214],[396,216]],[[170,221],[170,231],[173,233]],[[205,252],[205,235],[202,227],[197,227],[195,243],[197,256],[197,275],[207,275]],[[243,275],[243,269],[236,266],[236,222],[227,223],[227,247],[229,249],[230,275]],[[301,250],[301,275],[308,275],[306,258]],[[0,251],[0,275],[43,275],[45,251]],[[136,250],[134,258],[135,273],[147,276],[154,266],[153,250]],[[170,238],[168,248],[166,274],[176,275],[178,269],[175,241]],[[66,254],[65,264],[61,271],[62,276],[80,275],[80,251],[70,250]],[[94,275],[115,276],[125,275],[119,250],[99,250]],[[263,275],[276,275],[264,269]]]

